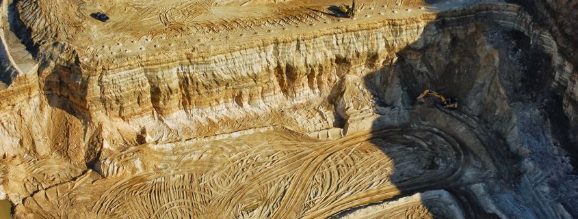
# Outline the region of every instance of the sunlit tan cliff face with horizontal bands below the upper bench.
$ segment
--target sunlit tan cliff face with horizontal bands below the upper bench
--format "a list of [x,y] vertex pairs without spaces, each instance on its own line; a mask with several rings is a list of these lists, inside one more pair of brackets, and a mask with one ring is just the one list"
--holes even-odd
[[[124,119],[130,126],[144,126],[144,121],[172,123],[173,127],[146,127],[161,142],[267,123],[299,128],[291,124],[295,121],[284,121],[290,118],[271,116],[298,104],[320,104],[339,78],[375,70],[418,38],[424,25],[425,21],[401,20],[338,34],[272,40],[222,55],[105,70],[88,85],[86,102],[91,113]],[[254,122],[246,123],[243,117]]]

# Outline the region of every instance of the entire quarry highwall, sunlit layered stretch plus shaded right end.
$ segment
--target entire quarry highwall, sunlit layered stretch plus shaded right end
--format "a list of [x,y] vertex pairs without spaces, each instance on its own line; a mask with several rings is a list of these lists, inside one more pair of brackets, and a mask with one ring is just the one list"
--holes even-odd
[[[86,183],[142,173],[140,165],[123,169],[111,160],[147,144],[187,148],[196,138],[258,128],[340,138],[428,123],[451,136],[484,129],[491,134],[480,141],[489,143],[464,139],[464,145],[494,145],[511,155],[493,164],[511,178],[465,186],[484,210],[508,218],[576,214],[566,151],[578,133],[578,79],[556,35],[519,5],[473,5],[98,68],[49,57],[42,56],[38,72],[18,74],[0,91],[8,100],[0,103],[2,174],[11,176],[3,177],[3,192],[16,203],[64,189],[54,186],[80,175]],[[454,129],[447,115],[418,105],[415,96],[428,87],[458,98],[463,115],[456,117],[475,126]],[[34,177],[34,169],[52,164],[60,167]],[[48,201],[25,202],[19,212],[33,214],[59,199],[40,194],[29,200]]]

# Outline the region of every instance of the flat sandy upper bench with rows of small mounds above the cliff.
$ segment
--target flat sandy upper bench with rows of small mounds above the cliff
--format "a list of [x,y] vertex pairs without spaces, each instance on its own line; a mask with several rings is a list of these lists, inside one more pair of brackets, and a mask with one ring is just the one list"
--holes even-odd
[[[86,62],[196,45],[239,44],[276,35],[407,18],[460,7],[471,1],[359,0],[354,19],[334,10],[340,3],[350,1],[117,0],[77,3],[49,0],[40,7],[47,14],[47,20],[54,21],[49,23],[57,31],[57,37],[75,46],[81,61]],[[20,7],[37,6],[23,3]],[[98,21],[90,16],[94,12],[105,12],[110,20],[107,23]],[[44,20],[38,20],[41,22]]]

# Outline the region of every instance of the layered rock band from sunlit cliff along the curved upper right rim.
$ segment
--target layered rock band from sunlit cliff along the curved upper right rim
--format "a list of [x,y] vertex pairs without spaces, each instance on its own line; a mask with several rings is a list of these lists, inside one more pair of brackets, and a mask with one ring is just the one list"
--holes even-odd
[[[568,85],[573,68],[558,55],[549,34],[533,28],[518,6],[478,5],[438,16],[438,20],[456,20],[458,27],[480,19],[531,35],[533,42],[553,55],[553,72],[549,72],[553,83],[560,89]],[[278,108],[319,106],[343,76],[364,75],[395,63],[399,50],[425,38],[420,38],[421,33],[434,18],[425,14],[330,29],[211,55],[194,51],[137,57],[101,68],[58,62],[41,71],[41,90],[50,104],[84,121],[102,123],[107,127],[103,135],[113,145],[132,144],[131,136],[135,138],[143,128],[153,141],[170,142],[271,123],[291,126],[295,121],[289,118],[272,121]],[[62,49],[64,53],[70,48]],[[566,94],[564,100],[573,101],[574,96]]]

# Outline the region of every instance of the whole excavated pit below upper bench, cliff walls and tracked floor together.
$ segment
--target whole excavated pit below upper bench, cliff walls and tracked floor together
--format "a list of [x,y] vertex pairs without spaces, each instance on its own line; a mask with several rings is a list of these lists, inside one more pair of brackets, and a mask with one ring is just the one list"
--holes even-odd
[[[202,49],[96,66],[40,53],[0,90],[16,217],[578,217],[576,70],[521,6]],[[427,88],[458,111],[418,104]],[[277,132],[228,138],[262,130]],[[181,199],[194,210],[163,205]]]

